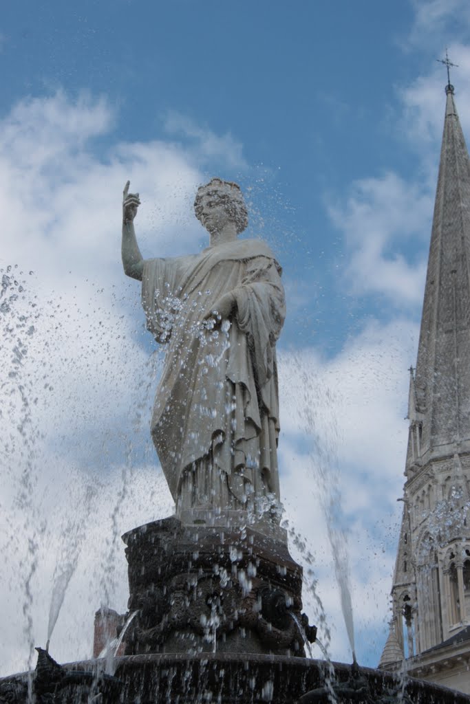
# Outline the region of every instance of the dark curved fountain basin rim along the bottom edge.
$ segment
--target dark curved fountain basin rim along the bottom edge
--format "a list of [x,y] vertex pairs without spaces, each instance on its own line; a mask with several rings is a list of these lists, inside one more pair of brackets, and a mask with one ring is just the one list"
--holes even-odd
[[[95,672],[101,661],[64,665],[70,681],[74,672]],[[116,660],[118,691],[106,704],[329,704],[325,662],[276,655],[133,655]],[[333,684],[354,680],[351,665],[333,663]],[[34,678],[34,673],[33,678]],[[96,674],[95,674],[96,677]],[[451,689],[410,678],[402,691],[400,678],[380,670],[360,669],[364,683],[357,696],[337,696],[338,704],[469,704],[470,697]],[[335,685],[336,686],[336,685]],[[82,686],[61,691],[44,704],[78,704]],[[34,689],[34,679],[33,679]],[[343,691],[347,691],[343,689]],[[0,679],[0,702],[27,704],[27,674]]]

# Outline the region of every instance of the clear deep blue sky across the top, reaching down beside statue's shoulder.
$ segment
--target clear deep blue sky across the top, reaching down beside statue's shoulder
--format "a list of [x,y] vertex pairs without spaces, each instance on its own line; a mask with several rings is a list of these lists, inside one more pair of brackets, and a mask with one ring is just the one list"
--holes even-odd
[[[72,100],[105,96],[112,129],[92,147],[104,158],[117,140],[230,136],[231,163],[207,158],[201,168],[255,186],[292,281],[328,288],[319,313],[334,318],[328,347],[338,348],[354,304],[331,285],[347,253],[325,199],[373,172],[409,168],[392,115],[398,85],[423,63],[397,51],[412,19],[407,2],[20,2],[4,23],[4,111],[57,89]],[[314,277],[299,258],[320,263]]]

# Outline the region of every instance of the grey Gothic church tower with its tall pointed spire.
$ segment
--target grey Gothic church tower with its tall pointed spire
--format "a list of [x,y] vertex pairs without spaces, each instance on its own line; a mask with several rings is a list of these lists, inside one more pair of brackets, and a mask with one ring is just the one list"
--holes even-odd
[[[379,667],[470,693],[470,161],[447,84],[403,518]],[[467,520],[468,519],[468,520]]]

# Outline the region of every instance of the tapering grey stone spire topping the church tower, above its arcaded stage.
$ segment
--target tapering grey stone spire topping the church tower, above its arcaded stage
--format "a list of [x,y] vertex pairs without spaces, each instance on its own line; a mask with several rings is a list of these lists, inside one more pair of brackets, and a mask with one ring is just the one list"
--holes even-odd
[[428,455],[448,455],[455,443],[470,441],[470,161],[450,82],[445,92],[443,144],[414,375],[416,411],[422,419],[421,463]]

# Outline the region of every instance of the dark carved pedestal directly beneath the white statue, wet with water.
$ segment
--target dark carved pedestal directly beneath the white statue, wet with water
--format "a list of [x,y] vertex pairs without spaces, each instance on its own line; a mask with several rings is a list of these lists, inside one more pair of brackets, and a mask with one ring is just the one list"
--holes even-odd
[[170,517],[126,533],[128,608],[138,611],[125,635],[126,655],[304,656],[302,567],[279,529],[267,532]]

